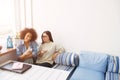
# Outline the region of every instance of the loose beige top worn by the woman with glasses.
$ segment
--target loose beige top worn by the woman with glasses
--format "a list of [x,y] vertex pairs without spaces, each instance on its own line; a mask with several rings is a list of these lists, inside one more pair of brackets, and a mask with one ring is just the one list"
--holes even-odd
[[52,55],[54,53],[62,53],[65,51],[63,47],[56,45],[54,42],[41,44],[39,50],[44,50],[46,52],[41,57],[37,57],[36,63],[48,62],[50,64],[53,64]]

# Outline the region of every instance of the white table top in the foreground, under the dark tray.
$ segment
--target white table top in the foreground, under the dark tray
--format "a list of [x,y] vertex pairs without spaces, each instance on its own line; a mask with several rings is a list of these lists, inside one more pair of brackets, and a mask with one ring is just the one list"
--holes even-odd
[[66,80],[69,71],[32,65],[23,74],[0,70],[0,80]]

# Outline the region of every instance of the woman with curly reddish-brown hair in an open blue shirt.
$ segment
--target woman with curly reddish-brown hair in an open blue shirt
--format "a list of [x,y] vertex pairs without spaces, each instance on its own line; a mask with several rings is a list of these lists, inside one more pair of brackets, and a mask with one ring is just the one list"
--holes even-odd
[[37,33],[33,28],[25,28],[20,32],[20,41],[16,46],[19,61],[34,63],[37,56],[38,44],[35,41]]

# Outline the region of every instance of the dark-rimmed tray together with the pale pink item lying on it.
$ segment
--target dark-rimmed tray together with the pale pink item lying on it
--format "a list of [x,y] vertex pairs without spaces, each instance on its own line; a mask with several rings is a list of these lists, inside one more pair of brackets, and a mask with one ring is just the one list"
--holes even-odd
[[3,64],[2,66],[0,66],[0,69],[22,74],[32,67],[32,65],[25,64],[25,63],[22,63],[18,67],[16,67],[16,63],[18,64],[17,61],[9,61],[9,62]]

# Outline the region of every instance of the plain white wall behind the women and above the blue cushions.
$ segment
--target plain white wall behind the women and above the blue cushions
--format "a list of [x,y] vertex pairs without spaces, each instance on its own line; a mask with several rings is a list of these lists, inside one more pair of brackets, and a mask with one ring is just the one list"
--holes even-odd
[[[34,0],[33,26],[67,51],[120,54],[120,0]],[[41,39],[38,39],[41,41]]]

